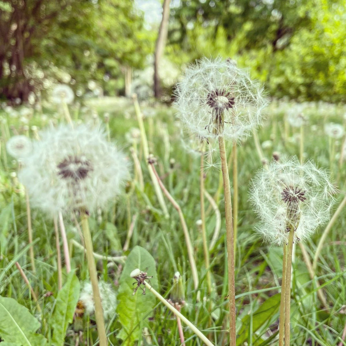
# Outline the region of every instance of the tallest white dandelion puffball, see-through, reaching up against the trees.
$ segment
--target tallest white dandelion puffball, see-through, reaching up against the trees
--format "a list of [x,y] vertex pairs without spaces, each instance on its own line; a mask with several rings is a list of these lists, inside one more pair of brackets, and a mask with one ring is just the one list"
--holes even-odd
[[230,59],[203,58],[177,84],[178,118],[195,135],[240,140],[261,122],[267,105],[261,85]]

